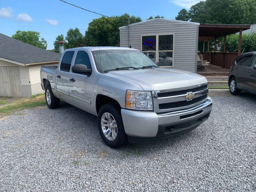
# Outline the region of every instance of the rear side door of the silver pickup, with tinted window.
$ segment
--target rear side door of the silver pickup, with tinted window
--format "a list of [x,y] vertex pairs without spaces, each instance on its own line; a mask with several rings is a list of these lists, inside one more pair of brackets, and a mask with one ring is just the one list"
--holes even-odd
[[66,102],[69,100],[69,74],[74,53],[74,51],[65,52],[56,71],[57,92],[60,98]]

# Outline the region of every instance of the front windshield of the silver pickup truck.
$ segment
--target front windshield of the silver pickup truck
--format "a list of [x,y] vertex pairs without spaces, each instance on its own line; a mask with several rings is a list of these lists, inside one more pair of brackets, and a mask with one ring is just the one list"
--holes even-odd
[[[101,72],[124,67],[142,68],[145,66],[158,67],[145,54],[137,50],[97,50],[92,51],[97,69]],[[133,70],[134,68],[129,68]]]

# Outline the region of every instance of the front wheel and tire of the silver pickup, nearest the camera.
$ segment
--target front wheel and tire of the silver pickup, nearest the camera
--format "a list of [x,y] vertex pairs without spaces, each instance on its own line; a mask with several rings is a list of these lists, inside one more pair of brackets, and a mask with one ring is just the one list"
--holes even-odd
[[127,135],[124,131],[121,108],[116,103],[105,104],[100,108],[98,113],[98,128],[102,140],[109,147],[120,148],[127,144]]

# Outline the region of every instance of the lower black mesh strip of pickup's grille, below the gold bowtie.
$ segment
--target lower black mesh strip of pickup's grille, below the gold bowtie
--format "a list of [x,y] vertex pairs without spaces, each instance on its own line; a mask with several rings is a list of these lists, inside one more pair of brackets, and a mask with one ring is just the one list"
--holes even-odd
[[207,94],[202,95],[200,97],[196,97],[192,100],[183,100],[183,101],[176,101],[176,102],[171,102],[171,103],[160,103],[159,104],[159,109],[170,109],[170,108],[185,107],[185,106],[193,105],[195,103],[203,101],[206,98],[207,98]]

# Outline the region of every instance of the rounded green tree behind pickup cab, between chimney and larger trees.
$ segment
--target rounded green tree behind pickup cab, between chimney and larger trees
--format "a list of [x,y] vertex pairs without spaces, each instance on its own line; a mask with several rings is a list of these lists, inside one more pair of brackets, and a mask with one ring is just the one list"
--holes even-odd
[[72,29],[70,28],[67,32],[67,36],[65,37],[67,44],[65,44],[66,49],[84,46],[83,43],[83,35],[80,33],[78,28]]

